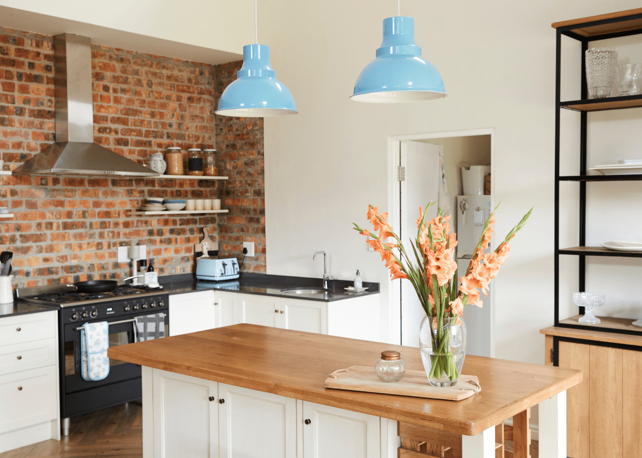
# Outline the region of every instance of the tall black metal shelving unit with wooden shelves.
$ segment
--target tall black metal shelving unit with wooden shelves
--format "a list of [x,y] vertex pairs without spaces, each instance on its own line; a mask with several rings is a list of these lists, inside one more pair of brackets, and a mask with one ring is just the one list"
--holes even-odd
[[[639,10],[638,10],[639,12]],[[642,33],[642,13],[627,14],[627,12],[613,13],[603,16],[597,21],[568,21],[553,24],[557,30],[556,69],[555,69],[555,326],[600,330],[603,332],[618,332],[620,334],[642,335],[642,328],[638,330],[623,329],[621,327],[607,327],[600,325],[580,325],[575,323],[560,323],[559,316],[559,285],[560,285],[560,255],[578,257],[579,285],[578,291],[586,289],[586,257],[637,257],[642,258],[642,252],[609,251],[602,247],[586,246],[586,183],[587,182],[613,182],[613,181],[640,181],[642,174],[629,175],[589,175],[587,174],[587,114],[593,111],[621,110],[626,108],[642,107],[642,95],[611,97],[604,99],[588,99],[586,86],[586,65],[584,52],[589,47],[589,42],[604,40],[606,38],[626,37]],[[582,72],[581,92],[582,99],[574,101],[560,100],[561,62],[562,62],[562,35],[578,40],[582,44]],[[574,176],[560,176],[560,110],[567,109],[580,112],[580,174]],[[579,246],[560,248],[560,182],[578,182],[580,189],[580,214],[579,214]],[[579,307],[578,315],[584,314],[584,307]],[[568,321],[570,319],[562,320]],[[632,327],[635,328],[635,327]]]

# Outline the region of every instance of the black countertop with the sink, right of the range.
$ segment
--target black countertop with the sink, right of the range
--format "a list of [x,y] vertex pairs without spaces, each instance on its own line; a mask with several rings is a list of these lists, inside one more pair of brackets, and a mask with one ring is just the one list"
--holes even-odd
[[309,278],[303,276],[265,275],[258,273],[241,273],[238,279],[225,282],[206,282],[196,280],[193,274],[167,275],[159,277],[160,284],[169,294],[193,293],[203,289],[215,289],[219,291],[236,291],[245,294],[261,294],[262,296],[278,296],[281,298],[296,298],[311,301],[332,302],[343,299],[350,299],[358,296],[369,296],[379,294],[379,284],[363,282],[367,291],[363,293],[348,293],[345,287],[352,286],[348,280],[329,280],[329,293],[320,294],[284,294],[282,289],[310,287],[321,289],[320,278]]

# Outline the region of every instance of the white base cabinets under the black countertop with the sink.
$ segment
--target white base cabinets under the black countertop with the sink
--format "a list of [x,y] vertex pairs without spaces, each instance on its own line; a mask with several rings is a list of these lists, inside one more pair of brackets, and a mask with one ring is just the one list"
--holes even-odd
[[204,289],[169,296],[169,335],[239,323],[379,341],[379,294],[318,301]]

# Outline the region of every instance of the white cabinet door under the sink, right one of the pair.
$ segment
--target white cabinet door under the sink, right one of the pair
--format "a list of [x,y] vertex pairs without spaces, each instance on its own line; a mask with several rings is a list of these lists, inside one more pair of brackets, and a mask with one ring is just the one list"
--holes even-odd
[[281,298],[281,327],[327,334],[327,302]]

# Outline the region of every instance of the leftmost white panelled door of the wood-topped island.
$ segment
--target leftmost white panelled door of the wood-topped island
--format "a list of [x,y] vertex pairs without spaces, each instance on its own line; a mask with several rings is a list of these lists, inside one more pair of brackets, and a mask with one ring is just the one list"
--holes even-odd
[[154,458],[217,458],[218,384],[160,369],[152,377]]

